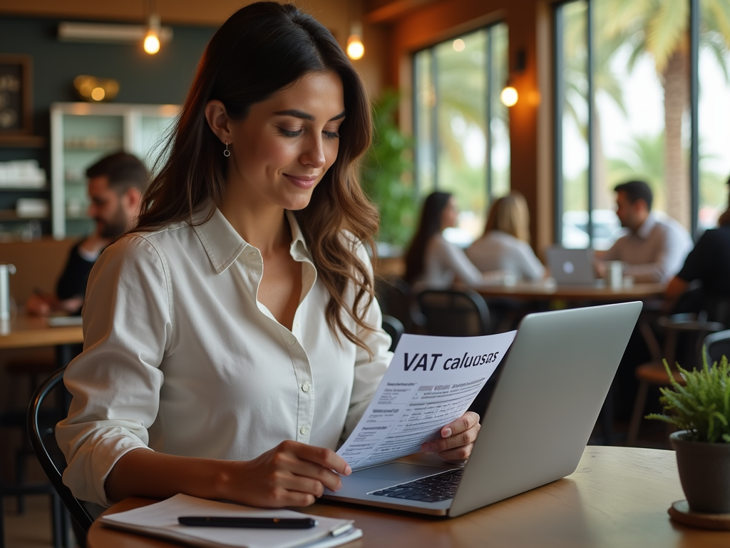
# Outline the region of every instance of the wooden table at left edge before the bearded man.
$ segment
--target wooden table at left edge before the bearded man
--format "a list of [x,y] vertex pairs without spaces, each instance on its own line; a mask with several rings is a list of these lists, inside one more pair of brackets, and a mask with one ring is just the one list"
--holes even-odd
[[18,314],[0,324],[0,349],[28,349],[83,343],[81,326],[50,327],[47,318]]

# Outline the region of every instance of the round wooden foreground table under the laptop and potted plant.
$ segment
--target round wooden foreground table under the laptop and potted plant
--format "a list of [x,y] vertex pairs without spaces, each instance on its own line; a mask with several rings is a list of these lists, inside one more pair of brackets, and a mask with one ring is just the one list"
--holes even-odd
[[[666,510],[683,498],[674,452],[588,446],[572,475],[453,520],[328,503],[299,510],[355,520],[364,536],[347,544],[350,548],[729,547],[730,531],[693,529],[669,520]],[[129,498],[107,513],[152,502]],[[95,522],[87,546],[175,545]]]

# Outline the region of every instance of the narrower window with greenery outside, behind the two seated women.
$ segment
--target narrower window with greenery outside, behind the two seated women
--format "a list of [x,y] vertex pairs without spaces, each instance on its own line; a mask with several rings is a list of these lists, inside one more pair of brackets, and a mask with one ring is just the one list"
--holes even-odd
[[414,58],[416,185],[453,193],[461,213],[447,237],[466,245],[486,209],[510,191],[507,26],[498,23],[421,50]]

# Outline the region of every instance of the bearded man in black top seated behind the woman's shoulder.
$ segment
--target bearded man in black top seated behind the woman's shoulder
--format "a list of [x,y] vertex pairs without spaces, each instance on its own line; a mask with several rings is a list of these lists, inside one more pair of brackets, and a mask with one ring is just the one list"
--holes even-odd
[[96,229],[72,248],[56,294],[31,296],[26,302],[28,313],[80,312],[88,275],[101,251],[137,224],[147,176],[145,164],[124,152],[105,156],[86,170],[88,216],[96,221]]

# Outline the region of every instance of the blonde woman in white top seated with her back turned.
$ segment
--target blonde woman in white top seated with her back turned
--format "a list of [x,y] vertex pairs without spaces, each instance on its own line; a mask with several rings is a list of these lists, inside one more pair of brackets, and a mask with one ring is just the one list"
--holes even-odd
[[537,281],[545,267],[530,247],[530,218],[522,194],[497,199],[487,218],[484,234],[466,250],[466,256],[483,273],[501,271],[516,281]]

